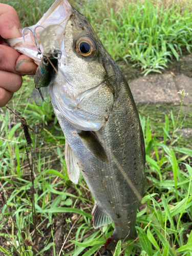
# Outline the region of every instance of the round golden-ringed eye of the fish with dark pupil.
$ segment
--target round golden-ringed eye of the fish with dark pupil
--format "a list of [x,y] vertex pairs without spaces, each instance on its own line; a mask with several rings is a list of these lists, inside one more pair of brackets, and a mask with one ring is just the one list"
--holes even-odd
[[95,42],[90,37],[80,37],[76,41],[75,51],[81,57],[92,58],[97,51]]

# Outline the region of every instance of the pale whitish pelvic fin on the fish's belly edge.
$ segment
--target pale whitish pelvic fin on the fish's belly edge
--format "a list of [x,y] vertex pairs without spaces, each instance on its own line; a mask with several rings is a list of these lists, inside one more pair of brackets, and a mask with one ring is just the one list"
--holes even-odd
[[65,159],[68,177],[72,182],[77,184],[80,175],[80,168],[78,166],[77,159],[67,141],[65,146]]

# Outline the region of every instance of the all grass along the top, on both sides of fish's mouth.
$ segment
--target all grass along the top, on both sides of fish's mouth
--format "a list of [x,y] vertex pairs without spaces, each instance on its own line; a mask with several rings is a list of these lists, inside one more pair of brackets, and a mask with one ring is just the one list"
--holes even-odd
[[[53,3],[3,0],[18,12],[22,26],[35,24]],[[191,52],[192,2],[189,1],[71,1],[97,31],[115,60],[124,59],[144,75],[161,73],[167,63]],[[31,11],[31,9],[33,11]]]

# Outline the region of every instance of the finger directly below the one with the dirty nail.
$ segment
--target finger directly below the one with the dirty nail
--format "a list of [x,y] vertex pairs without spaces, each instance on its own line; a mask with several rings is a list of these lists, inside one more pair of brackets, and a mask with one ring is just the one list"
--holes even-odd
[[7,91],[14,93],[17,92],[22,86],[22,76],[0,70],[0,87]]

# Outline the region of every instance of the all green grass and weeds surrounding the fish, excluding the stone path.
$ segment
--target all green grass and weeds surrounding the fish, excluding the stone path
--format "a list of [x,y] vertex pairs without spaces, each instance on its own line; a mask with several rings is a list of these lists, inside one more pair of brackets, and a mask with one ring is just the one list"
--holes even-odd
[[[28,27],[53,1],[2,3],[13,6]],[[70,3],[88,17],[115,60],[144,75],[191,51],[190,0]],[[93,228],[94,199],[82,177],[78,185],[68,179],[65,138],[51,104],[38,107],[31,100],[33,88],[33,78],[25,77],[7,105],[13,111],[0,110],[0,255],[104,254],[114,226]],[[192,143],[181,133],[192,125],[191,114],[182,112],[185,95],[174,108],[138,105],[151,182],[138,209],[138,239],[119,242],[115,256],[192,255]]]

